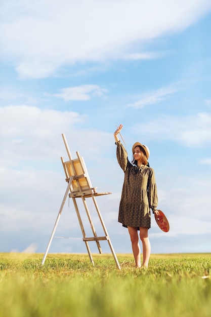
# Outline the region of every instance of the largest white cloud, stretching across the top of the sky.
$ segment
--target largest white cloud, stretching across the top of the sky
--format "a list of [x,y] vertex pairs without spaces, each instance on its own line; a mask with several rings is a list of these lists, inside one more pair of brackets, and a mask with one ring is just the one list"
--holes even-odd
[[133,55],[135,44],[181,31],[210,7],[208,0],[8,0],[1,11],[1,57],[25,78],[49,76],[63,64],[140,58]]

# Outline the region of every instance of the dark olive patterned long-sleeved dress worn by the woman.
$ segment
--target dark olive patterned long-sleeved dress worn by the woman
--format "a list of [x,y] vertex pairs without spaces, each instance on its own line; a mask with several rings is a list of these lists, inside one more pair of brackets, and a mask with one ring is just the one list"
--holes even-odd
[[154,170],[147,166],[132,165],[121,142],[115,144],[117,160],[124,171],[118,222],[124,227],[150,228],[150,208],[154,213],[158,204]]

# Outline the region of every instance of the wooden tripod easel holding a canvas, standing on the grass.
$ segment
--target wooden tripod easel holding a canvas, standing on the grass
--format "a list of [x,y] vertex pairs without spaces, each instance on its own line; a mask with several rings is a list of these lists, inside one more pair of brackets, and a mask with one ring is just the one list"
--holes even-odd
[[[66,189],[66,192],[64,194],[64,198],[63,198],[63,201],[62,201],[62,204],[61,204],[61,207],[60,207],[60,210],[59,210],[59,213],[58,213],[58,216],[57,216],[57,219],[56,219],[56,222],[55,222],[55,225],[54,225],[54,228],[53,228],[50,240],[49,240],[49,244],[48,244],[47,249],[46,249],[46,253],[45,253],[45,255],[43,257],[43,261],[41,263],[43,265],[45,263],[45,260],[46,260],[49,248],[51,246],[51,243],[52,243],[52,240],[53,240],[57,225],[59,223],[59,219],[60,219],[64,204],[65,204],[65,201],[66,201],[67,196],[69,194],[69,197],[72,198],[72,201],[73,201],[73,204],[74,204],[74,207],[75,207],[75,211],[76,211],[76,214],[77,214],[77,218],[78,218],[78,221],[79,221],[80,229],[81,229],[81,232],[82,232],[82,235],[83,235],[82,240],[86,244],[87,251],[88,251],[88,254],[89,254],[89,257],[90,257],[90,261],[92,262],[92,264],[94,265],[94,260],[93,260],[92,253],[90,251],[90,247],[89,247],[88,242],[95,241],[96,244],[97,244],[99,253],[102,254],[100,241],[106,240],[108,242],[108,244],[109,244],[109,247],[110,247],[111,253],[113,255],[113,258],[115,260],[117,268],[121,269],[120,265],[119,265],[119,262],[118,262],[118,259],[116,257],[116,254],[114,252],[113,246],[111,244],[110,237],[109,237],[108,232],[106,230],[103,218],[101,216],[99,207],[97,205],[97,201],[96,201],[96,196],[110,194],[111,192],[98,193],[96,187],[92,187],[92,184],[91,184],[91,181],[90,181],[90,178],[89,178],[86,166],[85,166],[85,162],[83,161],[82,157],[79,155],[79,153],[77,151],[76,152],[77,159],[73,160],[72,157],[71,157],[70,150],[69,150],[69,147],[68,147],[68,144],[67,144],[67,141],[66,141],[66,138],[65,138],[64,134],[62,134],[62,138],[63,138],[64,144],[65,144],[65,147],[66,147],[66,150],[67,150],[67,154],[68,154],[68,157],[69,157],[69,161],[68,162],[64,162],[63,157],[61,157],[62,165],[63,165],[64,172],[65,172],[65,175],[66,175],[66,182],[68,183],[68,185],[67,185],[67,189]],[[93,202],[94,202],[98,217],[100,219],[103,231],[105,233],[104,236],[98,236],[97,233],[96,233],[94,224],[92,222],[92,217],[91,217],[91,214],[90,214],[87,202],[86,202],[86,198],[88,198],[88,197],[91,197]],[[86,236],[85,228],[83,226],[83,223],[82,223],[82,220],[81,220],[81,217],[80,217],[80,213],[79,213],[79,209],[78,209],[78,206],[77,206],[77,202],[76,202],[76,199],[79,199],[79,198],[82,199],[83,206],[85,207],[85,210],[86,210],[86,213],[87,213],[87,216],[88,216],[91,228],[92,228],[92,232],[93,232],[93,235],[94,235],[92,237],[87,237]]]

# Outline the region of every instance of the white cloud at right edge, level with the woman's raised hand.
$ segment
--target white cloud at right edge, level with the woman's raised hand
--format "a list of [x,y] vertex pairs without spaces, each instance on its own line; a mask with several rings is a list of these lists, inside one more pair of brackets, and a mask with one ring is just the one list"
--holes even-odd
[[198,113],[189,116],[166,115],[133,126],[133,130],[141,129],[147,139],[156,135],[162,141],[174,140],[182,145],[195,147],[211,142],[211,114]]

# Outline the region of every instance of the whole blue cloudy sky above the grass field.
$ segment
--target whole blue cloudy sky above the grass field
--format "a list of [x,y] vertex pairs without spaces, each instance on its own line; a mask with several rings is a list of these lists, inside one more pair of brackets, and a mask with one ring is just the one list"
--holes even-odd
[[[210,1],[3,0],[0,16],[0,252],[46,251],[67,187],[64,133],[92,185],[112,192],[97,203],[115,252],[132,253],[117,221],[119,124],[129,160],[135,142],[149,147],[170,223],[162,232],[152,215],[152,253],[210,252]],[[69,199],[55,236],[71,239],[55,237],[49,252],[87,253]]]

